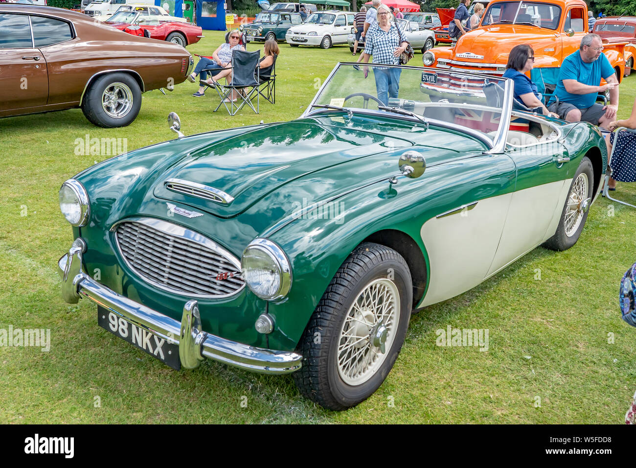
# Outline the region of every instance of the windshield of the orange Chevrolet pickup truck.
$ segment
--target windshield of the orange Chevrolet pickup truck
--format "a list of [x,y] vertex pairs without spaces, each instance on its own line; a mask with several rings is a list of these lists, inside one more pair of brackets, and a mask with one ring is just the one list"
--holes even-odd
[[561,8],[549,3],[501,2],[488,7],[481,25],[529,24],[547,29],[557,29],[561,19]]

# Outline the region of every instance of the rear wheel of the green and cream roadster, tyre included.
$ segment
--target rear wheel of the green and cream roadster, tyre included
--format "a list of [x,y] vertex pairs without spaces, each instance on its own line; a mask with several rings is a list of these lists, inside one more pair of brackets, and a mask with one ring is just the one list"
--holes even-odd
[[555,235],[544,243],[545,247],[562,251],[576,244],[590,212],[593,187],[594,169],[590,159],[584,157],[570,184]]

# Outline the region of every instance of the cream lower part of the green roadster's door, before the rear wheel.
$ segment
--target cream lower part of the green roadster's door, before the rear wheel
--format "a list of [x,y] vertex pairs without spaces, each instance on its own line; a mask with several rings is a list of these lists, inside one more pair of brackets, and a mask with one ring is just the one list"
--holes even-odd
[[565,182],[544,183],[515,192],[495,259],[482,280],[544,241],[555,211],[561,213],[563,209],[559,201]]

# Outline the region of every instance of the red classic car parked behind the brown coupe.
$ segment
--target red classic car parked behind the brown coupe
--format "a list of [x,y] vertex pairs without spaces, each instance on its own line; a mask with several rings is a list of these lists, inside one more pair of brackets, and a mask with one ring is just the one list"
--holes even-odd
[[200,26],[176,21],[159,21],[142,17],[135,11],[118,11],[105,24],[133,36],[160,39],[181,46],[195,44],[203,37]]

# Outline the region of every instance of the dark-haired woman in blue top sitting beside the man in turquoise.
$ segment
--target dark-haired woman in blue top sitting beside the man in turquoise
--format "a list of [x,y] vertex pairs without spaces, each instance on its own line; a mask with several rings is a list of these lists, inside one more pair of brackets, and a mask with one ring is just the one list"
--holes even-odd
[[511,78],[515,82],[515,99],[527,108],[540,107],[544,115],[558,118],[554,112],[548,111],[539,99],[537,85],[530,81],[525,73],[534,66],[534,50],[529,44],[520,44],[513,47],[508,56],[508,64],[503,74],[504,78]]

